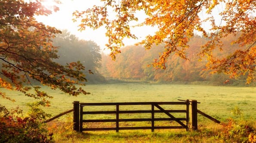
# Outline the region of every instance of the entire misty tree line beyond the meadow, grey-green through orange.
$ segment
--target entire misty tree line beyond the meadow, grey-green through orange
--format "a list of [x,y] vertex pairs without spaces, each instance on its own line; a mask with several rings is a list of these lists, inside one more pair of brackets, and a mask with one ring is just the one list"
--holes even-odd
[[[238,44],[230,44],[234,35],[222,38],[222,49],[212,51],[218,57],[225,57],[239,49]],[[80,61],[85,70],[88,82],[85,84],[113,83],[113,82],[149,82],[149,83],[178,83],[178,84],[205,84],[205,85],[246,85],[246,75],[232,79],[224,73],[211,74],[205,70],[207,57],[200,60],[198,53],[201,45],[207,39],[195,35],[189,41],[186,55],[189,60],[171,55],[166,63],[166,69],[155,69],[151,66],[153,59],[158,58],[164,49],[164,44],[153,45],[150,50],[138,45],[130,45],[121,49],[116,55],[116,61],[101,52],[94,41],[80,40],[75,35],[63,30],[62,34],[53,39],[54,46],[58,47],[56,62],[67,65],[72,61]],[[88,71],[90,70],[91,73]],[[31,80],[33,81],[33,80]],[[254,85],[251,83],[250,85]]]

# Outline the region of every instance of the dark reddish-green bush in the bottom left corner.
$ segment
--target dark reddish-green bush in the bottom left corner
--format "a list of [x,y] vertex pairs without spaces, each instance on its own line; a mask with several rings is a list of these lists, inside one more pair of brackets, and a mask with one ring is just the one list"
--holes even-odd
[[[30,114],[35,115],[36,113]],[[43,117],[46,116],[43,115]],[[47,134],[38,117],[24,117],[19,108],[8,111],[4,106],[0,105],[0,143],[52,142],[52,134]]]

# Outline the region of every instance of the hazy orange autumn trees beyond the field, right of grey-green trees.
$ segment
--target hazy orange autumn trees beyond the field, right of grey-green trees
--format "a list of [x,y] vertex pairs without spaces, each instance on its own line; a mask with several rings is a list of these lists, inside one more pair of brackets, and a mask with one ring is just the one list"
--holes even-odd
[[[233,39],[235,39],[234,35],[222,38],[222,49],[212,51],[213,55],[225,57],[238,50],[238,44],[230,44]],[[158,53],[163,52],[164,44],[154,45],[150,50],[145,50],[142,46],[127,46],[121,49],[121,54],[116,55],[116,61],[113,61],[109,55],[103,54],[100,73],[106,79],[128,82],[245,85],[246,75],[232,79],[224,73],[211,74],[210,70],[205,70],[207,57],[200,59],[198,53],[201,50],[201,45],[206,42],[207,39],[195,35],[189,41],[190,48],[186,50],[189,60],[172,54],[168,58],[165,70],[150,66],[154,62],[152,59],[157,59]]]

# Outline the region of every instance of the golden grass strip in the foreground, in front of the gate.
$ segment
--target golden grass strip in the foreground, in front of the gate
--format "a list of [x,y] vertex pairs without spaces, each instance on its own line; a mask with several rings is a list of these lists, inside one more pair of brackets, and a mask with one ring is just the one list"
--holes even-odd
[[[54,121],[55,123],[59,123]],[[48,123],[53,124],[53,123]],[[50,125],[49,125],[50,126]],[[54,129],[56,143],[224,143],[220,136],[222,125],[216,123],[200,124],[198,131],[183,129],[155,130],[122,130],[115,131],[86,131],[83,133],[65,129],[65,124]],[[64,130],[63,130],[64,129]],[[225,128],[224,128],[225,130]]]

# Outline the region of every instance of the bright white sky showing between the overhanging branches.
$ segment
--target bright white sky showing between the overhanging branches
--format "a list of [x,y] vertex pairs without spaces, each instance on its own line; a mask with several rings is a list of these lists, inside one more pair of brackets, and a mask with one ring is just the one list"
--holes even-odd
[[[62,4],[57,5],[59,7],[58,12],[53,12],[52,15],[49,16],[37,16],[37,20],[39,22],[43,22],[46,25],[56,27],[59,30],[67,29],[71,34],[76,35],[80,39],[84,39],[86,41],[94,41],[97,43],[104,53],[108,53],[108,50],[104,48],[105,44],[107,44],[108,39],[105,36],[105,29],[101,27],[100,29],[89,29],[87,28],[85,31],[79,32],[77,23],[73,23],[72,13],[76,10],[82,11],[88,8],[91,8],[94,5],[101,6],[103,5],[100,0],[60,0]],[[43,3],[46,7],[51,7],[56,3],[52,2],[52,0],[45,0]],[[131,33],[137,36],[137,40],[134,39],[125,39],[125,45],[132,45],[139,41],[141,41],[146,35],[153,34],[155,29],[152,27],[136,27],[131,29]]]

